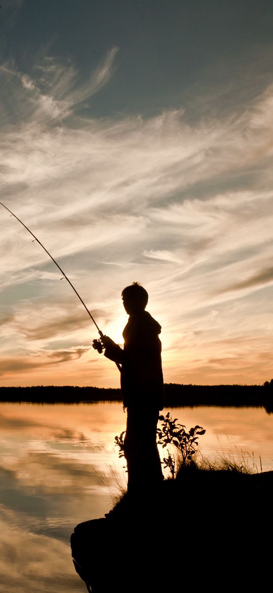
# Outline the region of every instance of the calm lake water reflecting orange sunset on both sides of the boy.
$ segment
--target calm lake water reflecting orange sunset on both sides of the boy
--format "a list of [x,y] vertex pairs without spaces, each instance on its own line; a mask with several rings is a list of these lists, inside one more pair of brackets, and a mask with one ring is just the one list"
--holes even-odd
[[[166,412],[167,410],[164,410]],[[242,452],[273,468],[273,415],[264,409],[176,408],[187,428],[199,424],[203,455]],[[124,430],[120,403],[0,404],[0,591],[84,592],[70,557],[76,524],[103,517],[125,483],[114,437]]]

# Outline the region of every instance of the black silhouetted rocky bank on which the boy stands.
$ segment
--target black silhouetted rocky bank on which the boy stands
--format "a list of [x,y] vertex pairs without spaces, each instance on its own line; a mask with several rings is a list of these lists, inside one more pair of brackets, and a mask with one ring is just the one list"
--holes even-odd
[[273,472],[188,466],[155,493],[127,495],[72,534],[75,568],[94,593],[261,588],[271,572]]

